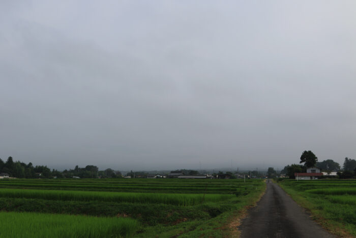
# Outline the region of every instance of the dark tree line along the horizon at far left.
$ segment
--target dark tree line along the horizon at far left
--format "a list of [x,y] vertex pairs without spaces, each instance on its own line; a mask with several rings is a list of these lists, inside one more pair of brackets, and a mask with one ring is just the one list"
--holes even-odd
[[65,170],[63,172],[50,170],[47,166],[33,166],[30,162],[25,164],[20,161],[14,162],[10,156],[6,162],[0,158],[0,173],[9,174],[16,178],[72,178],[73,176],[80,178],[112,178],[121,176],[120,172],[112,169],[99,171],[97,166],[87,165],[85,168],[76,166],[74,169]]

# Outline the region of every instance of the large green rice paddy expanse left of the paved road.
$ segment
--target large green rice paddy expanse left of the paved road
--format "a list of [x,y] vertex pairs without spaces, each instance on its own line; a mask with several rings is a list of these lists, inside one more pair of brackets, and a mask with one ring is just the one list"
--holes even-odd
[[1,179],[0,237],[233,237],[259,179]]

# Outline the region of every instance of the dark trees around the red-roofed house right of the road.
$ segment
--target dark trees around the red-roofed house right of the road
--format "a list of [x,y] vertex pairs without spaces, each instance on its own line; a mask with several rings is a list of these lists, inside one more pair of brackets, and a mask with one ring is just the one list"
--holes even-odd
[[[346,157],[341,169],[339,163],[333,160],[318,162],[318,158],[312,151],[304,151],[301,156],[300,164],[291,164],[284,167],[281,173],[285,173],[289,178],[295,178],[294,173],[306,173],[308,167],[316,166],[323,172],[338,172],[340,178],[352,178],[356,176],[356,160]],[[342,170],[342,171],[341,171]]]

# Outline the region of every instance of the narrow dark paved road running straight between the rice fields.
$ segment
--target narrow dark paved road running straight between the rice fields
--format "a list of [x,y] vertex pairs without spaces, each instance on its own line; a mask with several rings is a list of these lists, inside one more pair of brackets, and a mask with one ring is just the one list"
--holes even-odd
[[239,226],[242,238],[335,237],[311,220],[277,184],[266,183],[266,193]]

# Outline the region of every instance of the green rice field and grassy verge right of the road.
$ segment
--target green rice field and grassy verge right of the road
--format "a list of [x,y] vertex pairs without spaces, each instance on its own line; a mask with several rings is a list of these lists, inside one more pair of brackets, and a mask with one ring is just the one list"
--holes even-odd
[[356,236],[356,180],[283,180],[280,186],[325,229],[341,236]]

